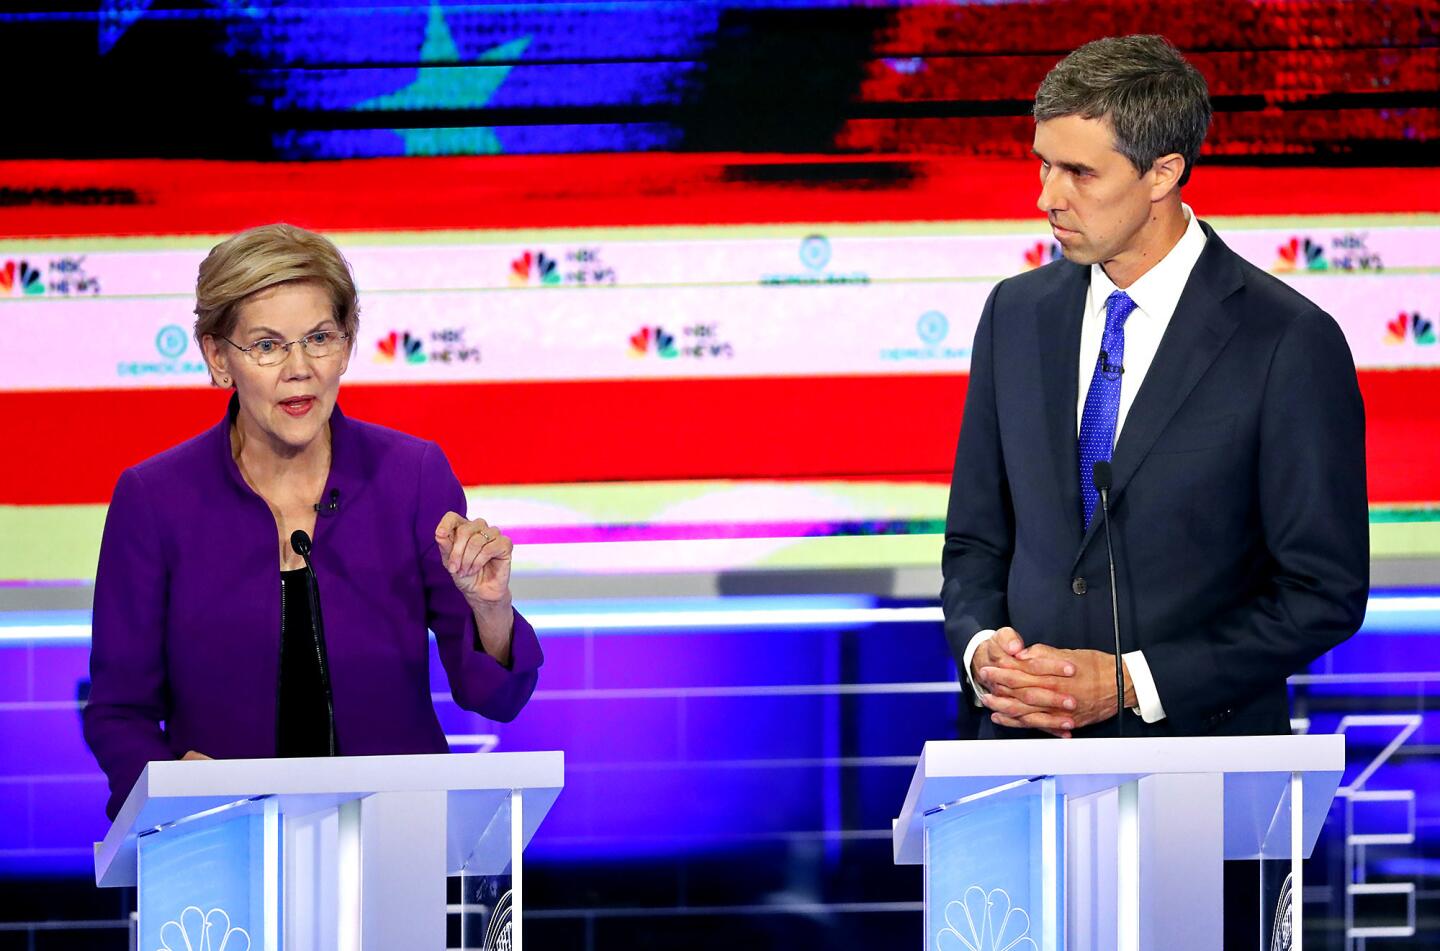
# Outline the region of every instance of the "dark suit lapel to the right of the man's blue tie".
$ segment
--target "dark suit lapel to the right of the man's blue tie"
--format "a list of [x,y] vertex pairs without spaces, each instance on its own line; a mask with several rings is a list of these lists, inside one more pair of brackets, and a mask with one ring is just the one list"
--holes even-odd
[[[1130,403],[1130,412],[1115,444],[1115,455],[1110,460],[1115,474],[1110,488],[1112,512],[1155,441],[1238,326],[1238,316],[1224,305],[1225,298],[1244,282],[1236,255],[1208,225],[1201,222],[1201,226],[1205,229],[1205,249],[1185,282],[1175,314],[1165,329],[1165,336],[1161,337],[1155,360],[1145,373],[1145,382]],[[1079,360],[1079,356],[1076,359]],[[1071,445],[1074,445],[1073,438]],[[1079,507],[1079,501],[1076,506]],[[1076,552],[1076,563],[1099,529],[1100,519],[1092,519],[1090,529]]]

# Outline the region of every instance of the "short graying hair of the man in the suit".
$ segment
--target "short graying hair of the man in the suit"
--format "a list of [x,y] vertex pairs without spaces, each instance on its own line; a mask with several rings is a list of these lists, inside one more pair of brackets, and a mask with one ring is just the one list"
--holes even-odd
[[1185,184],[1210,128],[1210,88],[1164,36],[1110,36],[1061,59],[1035,91],[1037,122],[1066,115],[1107,118],[1116,150],[1142,174],[1179,153]]

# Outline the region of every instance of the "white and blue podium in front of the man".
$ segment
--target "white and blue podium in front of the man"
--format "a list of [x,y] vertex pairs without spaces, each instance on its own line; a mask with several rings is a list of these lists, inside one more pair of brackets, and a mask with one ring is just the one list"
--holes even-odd
[[1302,947],[1303,866],[1345,738],[927,742],[894,820],[927,951],[1212,951],[1257,859],[1264,951]]

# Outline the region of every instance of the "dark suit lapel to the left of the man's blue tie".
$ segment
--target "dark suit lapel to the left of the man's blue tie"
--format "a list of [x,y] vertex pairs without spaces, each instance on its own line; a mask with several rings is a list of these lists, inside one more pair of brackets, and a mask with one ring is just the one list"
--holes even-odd
[[1040,379],[1045,402],[1045,445],[1056,470],[1060,517],[1080,539],[1080,481],[1076,476],[1076,399],[1080,373],[1080,323],[1084,317],[1090,268],[1066,262],[1064,275],[1035,311]]

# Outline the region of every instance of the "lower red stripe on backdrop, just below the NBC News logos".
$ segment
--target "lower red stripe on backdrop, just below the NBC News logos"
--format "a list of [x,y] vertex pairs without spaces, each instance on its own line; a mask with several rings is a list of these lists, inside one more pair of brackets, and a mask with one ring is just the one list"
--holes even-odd
[[[465,484],[685,478],[945,483],[965,376],[350,386],[346,412],[435,439]],[[1362,372],[1369,497],[1440,500],[1440,370]],[[104,503],[210,427],[216,390],[0,393],[0,503]]]

